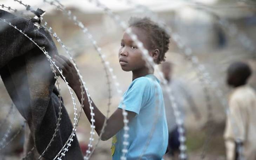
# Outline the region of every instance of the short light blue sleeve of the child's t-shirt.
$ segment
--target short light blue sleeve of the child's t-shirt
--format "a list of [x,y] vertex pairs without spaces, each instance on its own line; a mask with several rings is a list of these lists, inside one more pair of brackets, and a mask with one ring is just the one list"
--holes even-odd
[[132,111],[137,114],[148,102],[153,94],[153,84],[146,77],[135,79],[123,95],[123,102],[118,106],[120,109]]

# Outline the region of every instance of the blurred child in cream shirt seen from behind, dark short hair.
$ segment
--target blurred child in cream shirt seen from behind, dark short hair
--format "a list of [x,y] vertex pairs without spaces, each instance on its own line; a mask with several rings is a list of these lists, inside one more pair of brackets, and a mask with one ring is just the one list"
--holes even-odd
[[256,160],[256,93],[247,84],[251,74],[244,62],[234,62],[227,70],[227,84],[233,89],[224,132],[227,160]]

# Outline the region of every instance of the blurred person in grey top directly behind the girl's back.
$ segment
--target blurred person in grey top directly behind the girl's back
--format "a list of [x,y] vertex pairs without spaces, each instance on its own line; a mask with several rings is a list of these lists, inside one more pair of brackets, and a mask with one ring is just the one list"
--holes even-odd
[[[179,81],[178,79],[173,78],[173,64],[171,62],[163,62],[162,64],[162,72],[164,78],[167,80],[168,85],[171,87],[173,96],[175,98],[175,102],[177,104],[178,110],[181,112],[181,118],[184,120],[184,112],[187,107],[190,107],[194,116],[197,120],[201,118],[200,112],[197,110],[195,102],[191,96],[191,93],[186,88],[186,86]],[[166,158],[173,158],[174,160],[178,160],[178,155],[180,153],[180,141],[179,141],[179,133],[178,127],[176,125],[176,120],[174,116],[173,107],[171,106],[171,102],[169,100],[167,89],[162,84],[163,89],[163,98],[164,105],[166,107],[166,118],[169,132],[169,140],[168,140],[168,153]]]

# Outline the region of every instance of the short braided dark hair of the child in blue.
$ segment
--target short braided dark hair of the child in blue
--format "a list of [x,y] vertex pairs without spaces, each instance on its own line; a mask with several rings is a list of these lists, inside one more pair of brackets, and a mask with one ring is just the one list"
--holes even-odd
[[170,35],[157,23],[149,18],[130,18],[129,27],[137,27],[148,33],[152,49],[159,49],[159,56],[156,60],[157,64],[165,61],[165,53],[169,50]]

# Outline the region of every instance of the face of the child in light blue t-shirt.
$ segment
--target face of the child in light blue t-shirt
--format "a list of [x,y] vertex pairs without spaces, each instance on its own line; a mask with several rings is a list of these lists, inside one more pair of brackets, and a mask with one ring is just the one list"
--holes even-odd
[[[139,41],[143,43],[144,48],[149,50],[150,43],[147,33],[137,27],[132,27],[132,32],[137,35]],[[152,54],[150,50],[149,54]],[[142,59],[141,50],[136,46],[135,42],[133,42],[132,38],[126,32],[123,34],[118,56],[119,63],[124,71],[139,71],[146,67],[146,63]]]

